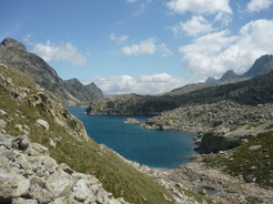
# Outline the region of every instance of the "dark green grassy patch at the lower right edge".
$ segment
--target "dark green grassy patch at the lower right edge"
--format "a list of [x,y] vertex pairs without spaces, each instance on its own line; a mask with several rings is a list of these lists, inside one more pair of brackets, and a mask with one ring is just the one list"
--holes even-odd
[[[252,145],[262,147],[250,151]],[[231,151],[231,156],[206,155],[210,157],[208,165],[219,167],[233,176],[255,180],[262,187],[273,187],[273,131],[252,136],[249,142]],[[252,166],[256,169],[253,170]]]

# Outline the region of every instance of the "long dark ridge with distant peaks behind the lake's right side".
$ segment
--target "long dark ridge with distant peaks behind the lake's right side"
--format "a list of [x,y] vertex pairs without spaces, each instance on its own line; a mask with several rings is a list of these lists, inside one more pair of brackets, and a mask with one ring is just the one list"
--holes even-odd
[[[181,105],[214,103],[222,100],[250,105],[273,102],[271,70],[273,70],[272,55],[263,55],[244,76],[237,76],[233,71],[226,72],[222,79],[229,81],[222,81],[224,83],[188,84],[161,95],[124,94],[103,98],[91,102],[87,113],[159,114]],[[254,78],[250,78],[249,73]]]

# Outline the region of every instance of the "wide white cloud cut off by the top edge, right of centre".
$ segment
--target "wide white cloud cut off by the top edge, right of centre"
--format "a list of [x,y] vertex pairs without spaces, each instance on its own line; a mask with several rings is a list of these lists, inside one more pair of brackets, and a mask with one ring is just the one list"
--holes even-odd
[[229,0],[171,0],[166,7],[176,13],[188,11],[199,14],[232,13]]

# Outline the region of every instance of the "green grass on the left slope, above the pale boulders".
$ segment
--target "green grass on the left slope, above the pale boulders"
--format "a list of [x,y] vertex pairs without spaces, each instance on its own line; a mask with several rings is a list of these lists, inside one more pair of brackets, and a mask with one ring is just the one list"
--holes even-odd
[[[36,84],[32,80],[26,78],[21,72],[0,65],[0,74],[7,74],[12,78],[16,85],[27,86],[30,89],[29,95],[36,93]],[[131,203],[150,203],[150,204],[169,204],[174,203],[166,201],[164,195],[171,198],[170,193],[159,185],[153,177],[148,176],[134,167],[125,164],[118,155],[108,147],[97,144],[93,140],[80,142],[70,136],[65,129],[54,122],[52,118],[41,108],[34,108],[27,102],[18,102],[13,96],[7,93],[7,90],[1,86],[0,78],[0,109],[9,115],[0,116],[2,120],[8,120],[6,131],[8,134],[17,136],[23,134],[14,128],[16,124],[26,124],[30,128],[29,137],[32,142],[40,143],[49,147],[51,157],[57,162],[67,163],[74,171],[95,175],[103,187],[113,193],[115,197],[123,197]],[[63,115],[65,116],[65,115]],[[48,121],[49,131],[42,130],[34,125],[37,119]],[[74,122],[70,122],[73,126]],[[49,145],[49,137],[55,137],[61,141],[55,141],[57,146]]]

